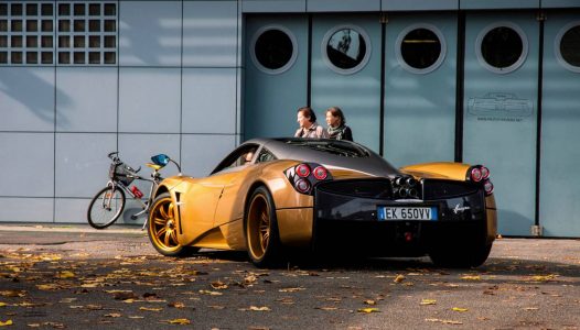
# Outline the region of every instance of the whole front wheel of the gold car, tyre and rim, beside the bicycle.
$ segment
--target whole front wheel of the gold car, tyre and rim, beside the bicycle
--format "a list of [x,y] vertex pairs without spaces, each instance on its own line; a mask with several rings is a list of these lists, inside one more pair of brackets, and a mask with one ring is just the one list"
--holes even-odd
[[178,241],[176,207],[169,193],[159,195],[149,210],[147,232],[155,250],[165,256],[185,256],[200,249]]

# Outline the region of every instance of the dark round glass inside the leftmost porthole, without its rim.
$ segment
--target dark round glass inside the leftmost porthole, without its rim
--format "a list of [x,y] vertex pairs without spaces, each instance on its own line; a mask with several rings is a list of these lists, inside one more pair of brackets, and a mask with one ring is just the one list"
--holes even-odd
[[292,41],[283,31],[264,32],[255,45],[256,59],[266,68],[279,69],[290,62],[294,51]]

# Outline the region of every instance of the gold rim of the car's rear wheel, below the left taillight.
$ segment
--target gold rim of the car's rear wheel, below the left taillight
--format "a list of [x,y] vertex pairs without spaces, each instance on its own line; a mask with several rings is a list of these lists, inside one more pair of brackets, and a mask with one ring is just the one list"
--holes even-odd
[[256,195],[249,206],[247,222],[248,246],[251,255],[259,260],[270,243],[270,212],[268,201],[261,194]]

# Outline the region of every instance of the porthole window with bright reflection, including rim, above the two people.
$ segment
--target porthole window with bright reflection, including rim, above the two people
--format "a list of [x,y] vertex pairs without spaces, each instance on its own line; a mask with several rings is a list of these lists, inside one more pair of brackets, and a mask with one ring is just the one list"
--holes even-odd
[[322,57],[332,70],[354,74],[365,67],[370,57],[368,34],[354,25],[336,26],[322,40]]

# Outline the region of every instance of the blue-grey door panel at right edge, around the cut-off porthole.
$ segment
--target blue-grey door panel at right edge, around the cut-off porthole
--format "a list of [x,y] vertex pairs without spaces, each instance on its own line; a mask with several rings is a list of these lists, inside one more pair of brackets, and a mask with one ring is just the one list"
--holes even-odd
[[580,237],[580,67],[562,65],[558,43],[570,24],[580,25],[578,13],[552,13],[544,34],[539,224],[546,237]]

